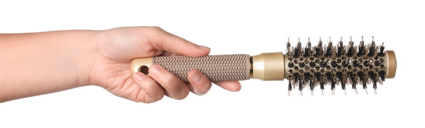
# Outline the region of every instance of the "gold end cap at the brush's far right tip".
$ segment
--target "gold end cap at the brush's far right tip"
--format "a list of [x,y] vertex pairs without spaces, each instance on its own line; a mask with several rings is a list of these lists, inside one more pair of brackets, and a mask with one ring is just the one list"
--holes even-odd
[[394,78],[395,70],[397,69],[397,60],[395,59],[395,53],[392,50],[386,50],[384,56],[384,70],[386,72],[385,78]]

